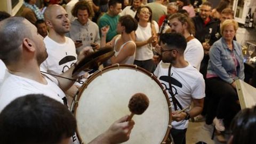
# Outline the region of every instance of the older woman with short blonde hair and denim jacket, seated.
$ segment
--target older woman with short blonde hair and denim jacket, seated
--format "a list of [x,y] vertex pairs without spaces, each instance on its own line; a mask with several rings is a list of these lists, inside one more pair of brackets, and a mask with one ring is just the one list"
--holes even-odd
[[[214,119],[215,128],[225,131],[225,126],[239,111],[236,92],[236,79],[244,79],[244,63],[241,45],[233,38],[238,29],[234,20],[226,20],[221,25],[221,35],[210,49],[207,67],[206,85],[209,87],[210,101],[206,115],[206,124]],[[216,111],[217,110],[217,111]]]

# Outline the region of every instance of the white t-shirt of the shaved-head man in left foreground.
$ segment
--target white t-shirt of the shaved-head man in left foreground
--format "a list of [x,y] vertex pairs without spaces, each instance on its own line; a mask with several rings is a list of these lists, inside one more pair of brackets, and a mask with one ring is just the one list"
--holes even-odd
[[[27,94],[44,94],[64,104],[67,102],[65,93],[58,86],[56,78],[43,75],[47,84],[41,84],[28,78],[10,74],[6,70],[4,83],[0,88],[0,113],[13,100]],[[67,105],[67,103],[66,103]],[[76,134],[71,138],[73,144],[78,144]]]

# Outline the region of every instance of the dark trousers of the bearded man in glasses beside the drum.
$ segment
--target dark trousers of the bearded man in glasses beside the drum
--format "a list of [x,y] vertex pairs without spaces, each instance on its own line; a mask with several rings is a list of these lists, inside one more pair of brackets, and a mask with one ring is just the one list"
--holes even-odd
[[171,134],[174,144],[186,144],[186,132],[187,129],[177,130],[172,128]]

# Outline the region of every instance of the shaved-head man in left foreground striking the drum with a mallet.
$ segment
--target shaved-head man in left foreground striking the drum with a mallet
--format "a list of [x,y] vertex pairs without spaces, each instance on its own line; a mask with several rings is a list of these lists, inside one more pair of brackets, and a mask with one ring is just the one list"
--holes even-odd
[[[54,78],[41,74],[39,65],[47,58],[47,52],[43,37],[37,33],[37,29],[25,18],[8,18],[0,22],[0,59],[7,67],[4,82],[0,89],[0,112],[11,101],[26,94],[44,94],[61,103],[65,103],[65,93],[74,81],[63,78]],[[13,41],[15,39],[15,42]],[[82,51],[78,55],[79,63],[85,57],[88,51]],[[72,77],[73,65],[61,76],[76,79]],[[92,142],[109,143],[123,142],[129,139],[134,122],[116,122],[115,133],[105,133],[99,135]],[[90,130],[88,130],[90,131]],[[73,136],[73,143],[78,143],[76,136]]]

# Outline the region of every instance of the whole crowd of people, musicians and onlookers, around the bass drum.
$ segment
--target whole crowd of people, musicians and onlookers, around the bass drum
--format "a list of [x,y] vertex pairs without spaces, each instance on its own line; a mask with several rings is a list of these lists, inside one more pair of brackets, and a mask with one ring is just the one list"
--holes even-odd
[[[66,9],[60,5],[64,2]],[[186,143],[190,118],[204,117],[217,131],[231,127],[230,143],[242,141],[237,135],[241,119],[250,123],[255,108],[238,113],[235,81],[244,79],[244,64],[229,1],[221,0],[217,7],[189,0],[43,3],[38,7],[36,0],[25,0],[21,17],[0,12],[0,135],[6,137],[0,143],[79,143],[76,119],[67,109],[81,86],[72,72],[87,55],[108,46],[115,54],[105,67],[137,65],[164,86],[172,106],[174,143]],[[129,140],[136,125],[126,122],[127,117],[91,143]],[[8,138],[13,134],[19,137]]]

